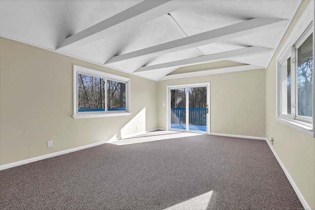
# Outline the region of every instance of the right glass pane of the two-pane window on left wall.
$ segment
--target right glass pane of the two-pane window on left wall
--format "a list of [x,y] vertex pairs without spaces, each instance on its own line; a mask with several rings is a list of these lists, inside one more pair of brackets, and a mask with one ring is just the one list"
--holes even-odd
[[107,110],[126,110],[126,83],[107,81]]

